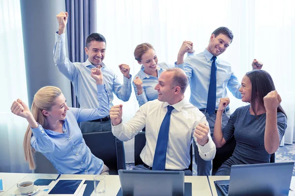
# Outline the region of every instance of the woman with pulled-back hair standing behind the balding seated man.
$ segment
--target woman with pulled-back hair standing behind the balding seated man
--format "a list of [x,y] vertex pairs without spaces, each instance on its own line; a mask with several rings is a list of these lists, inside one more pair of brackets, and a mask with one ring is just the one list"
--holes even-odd
[[[187,55],[193,55],[193,43],[189,41],[184,41],[184,43],[186,43],[183,45],[187,47]],[[168,65],[164,62],[158,63],[156,51],[148,43],[138,45],[134,50],[134,57],[138,64],[142,65],[133,80],[136,98],[139,106],[142,106],[146,102],[158,98],[158,92],[154,89],[158,83],[158,77],[164,70],[172,68],[174,65]]]

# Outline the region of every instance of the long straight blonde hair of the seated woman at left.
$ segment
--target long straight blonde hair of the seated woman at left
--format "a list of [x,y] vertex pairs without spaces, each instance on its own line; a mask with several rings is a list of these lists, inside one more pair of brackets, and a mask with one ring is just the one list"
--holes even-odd
[[[46,128],[46,126],[48,125],[45,116],[42,114],[42,111],[51,111],[52,106],[56,104],[55,101],[60,95],[61,90],[55,86],[45,86],[39,89],[35,94],[31,106],[31,113],[35,121],[39,123],[42,127]],[[31,136],[32,130],[28,125],[24,137],[23,146],[25,151],[25,160],[29,162],[29,169],[34,170],[36,168],[34,160],[35,149],[30,145]]]

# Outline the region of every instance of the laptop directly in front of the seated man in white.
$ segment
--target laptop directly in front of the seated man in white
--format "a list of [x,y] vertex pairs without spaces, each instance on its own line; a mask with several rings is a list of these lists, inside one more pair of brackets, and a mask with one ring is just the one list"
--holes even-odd
[[183,171],[118,172],[123,196],[184,196]]

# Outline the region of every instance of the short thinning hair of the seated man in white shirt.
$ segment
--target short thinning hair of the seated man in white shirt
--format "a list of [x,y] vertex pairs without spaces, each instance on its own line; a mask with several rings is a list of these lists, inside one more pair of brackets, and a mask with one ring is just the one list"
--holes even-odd
[[188,78],[183,70],[180,68],[169,68],[165,72],[173,72],[171,88],[180,87],[180,92],[184,93],[188,85]]

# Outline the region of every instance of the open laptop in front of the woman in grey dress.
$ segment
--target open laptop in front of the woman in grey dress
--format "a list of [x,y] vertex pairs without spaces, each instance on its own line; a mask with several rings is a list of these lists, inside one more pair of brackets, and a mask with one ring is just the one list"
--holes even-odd
[[225,196],[288,196],[294,162],[234,165],[230,180],[214,181]]

